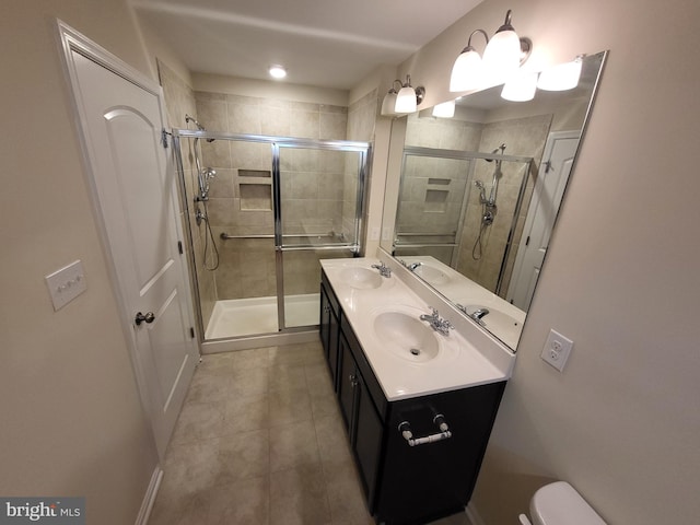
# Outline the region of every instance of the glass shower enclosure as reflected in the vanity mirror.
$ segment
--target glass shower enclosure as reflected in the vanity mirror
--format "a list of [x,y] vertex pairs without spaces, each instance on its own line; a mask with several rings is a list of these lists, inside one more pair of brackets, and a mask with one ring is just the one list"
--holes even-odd
[[505,148],[405,147],[394,255],[432,256],[505,294],[533,189],[532,158]]

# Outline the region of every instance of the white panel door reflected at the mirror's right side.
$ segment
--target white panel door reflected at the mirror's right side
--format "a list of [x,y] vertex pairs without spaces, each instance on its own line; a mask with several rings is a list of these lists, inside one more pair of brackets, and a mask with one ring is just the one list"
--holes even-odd
[[546,161],[535,183],[508,292],[508,299],[521,310],[527,311],[533,300],[580,137],[579,131],[557,131],[547,139]]

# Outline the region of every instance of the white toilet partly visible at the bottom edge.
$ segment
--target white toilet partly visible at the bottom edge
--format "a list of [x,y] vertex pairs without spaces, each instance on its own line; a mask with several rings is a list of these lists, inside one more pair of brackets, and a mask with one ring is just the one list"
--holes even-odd
[[597,512],[565,481],[546,485],[529,502],[532,522],[520,515],[522,525],[606,525]]

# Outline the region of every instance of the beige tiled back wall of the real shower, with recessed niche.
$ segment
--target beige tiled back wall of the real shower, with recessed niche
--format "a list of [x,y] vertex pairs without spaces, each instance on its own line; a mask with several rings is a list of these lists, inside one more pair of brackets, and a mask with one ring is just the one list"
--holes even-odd
[[[345,140],[347,107],[197,92],[197,118],[211,131]],[[213,167],[207,212],[219,247],[217,299],[277,294],[271,238],[221,240],[229,235],[271,235],[272,155],[269,144],[217,140],[200,142],[203,165]],[[342,154],[283,148],[280,152],[285,233],[340,232]],[[203,206],[203,205],[202,205]],[[285,293],[316,293],[318,256],[285,253]]]

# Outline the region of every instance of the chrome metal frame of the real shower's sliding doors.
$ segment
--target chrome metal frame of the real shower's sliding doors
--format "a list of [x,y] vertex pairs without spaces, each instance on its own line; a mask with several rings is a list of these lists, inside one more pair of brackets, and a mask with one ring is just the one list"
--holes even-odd
[[[165,132],[164,132],[165,133]],[[195,308],[197,316],[197,324],[199,325],[199,340],[200,342],[208,341],[205,339],[203,318],[201,315],[201,296],[199,293],[199,282],[197,278],[196,257],[194,252],[194,240],[191,235],[190,224],[190,207],[192,206],[187,198],[186,184],[185,184],[185,170],[183,165],[180,138],[198,138],[198,139],[214,139],[214,140],[228,140],[228,141],[241,141],[241,142],[255,142],[270,144],[272,153],[272,213],[273,213],[273,226],[275,233],[272,238],[275,240],[275,265],[276,265],[276,285],[277,285],[277,314],[278,314],[278,332],[277,334],[293,334],[299,331],[308,330],[317,325],[291,327],[285,326],[285,305],[284,305],[284,272],[283,272],[283,253],[295,250],[348,250],[354,256],[359,255],[362,249],[362,234],[364,230],[364,209],[366,206],[366,179],[369,175],[369,162],[372,153],[372,144],[370,142],[348,141],[348,140],[315,140],[304,139],[295,137],[275,137],[266,135],[244,135],[244,133],[224,133],[212,132],[207,130],[189,130],[189,129],[172,129],[171,135],[175,144],[175,151],[177,152],[176,162],[177,171],[179,174],[180,194],[183,196],[182,203],[187,222],[187,237],[189,244],[189,259],[190,266],[195,269],[191,272],[191,279],[194,284],[194,295],[197,301],[198,307]],[[164,136],[165,142],[165,136]],[[284,245],[284,235],[282,232],[282,196],[280,184],[280,149],[295,148],[295,149],[316,149],[327,151],[354,151],[360,154],[358,166],[358,188],[355,197],[355,218],[354,218],[354,240],[352,243],[326,243],[326,244],[301,244],[301,245]],[[296,235],[292,235],[296,236]],[[300,235],[301,236],[301,235]],[[236,235],[235,238],[259,238],[261,235]],[[265,235],[268,238],[268,235]],[[245,339],[249,337],[269,336],[270,334],[259,334],[255,336],[232,336],[225,339]],[[210,339],[211,341],[215,339]]]

